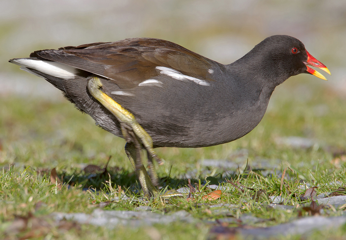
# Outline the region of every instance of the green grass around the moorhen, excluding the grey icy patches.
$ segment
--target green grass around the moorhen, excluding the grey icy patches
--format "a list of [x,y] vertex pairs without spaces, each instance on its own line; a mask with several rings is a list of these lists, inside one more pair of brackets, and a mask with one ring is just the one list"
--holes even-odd
[[[221,198],[212,201],[202,199],[211,192],[204,186],[201,194],[196,194],[195,202],[184,198],[169,201],[141,201],[142,194],[138,180],[124,152],[125,141],[96,127],[93,120],[76,111],[67,101],[47,102],[40,99],[2,97],[0,108],[0,234],[6,239],[222,239],[212,234],[218,226],[217,219],[239,218],[244,214],[265,219],[253,223],[251,227],[268,227],[289,222],[299,215],[309,216],[302,206],[309,205],[298,197],[305,190],[299,183],[318,185],[317,194],[328,193],[346,185],[346,99],[338,97],[329,88],[311,84],[311,96],[301,100],[295,90],[300,88],[296,81],[285,83],[274,92],[274,104],[265,114],[262,122],[248,135],[231,143],[199,149],[162,148],[157,153],[164,159],[163,166],[157,167],[160,185],[169,189],[186,186],[188,180],[183,173],[197,170],[192,184],[203,187],[206,178],[232,186],[221,177],[223,169],[201,166],[201,159],[233,160],[235,152],[248,151],[248,164],[257,159],[276,166],[270,173],[253,170],[244,171],[246,159],[237,160],[239,171],[227,175],[233,182],[239,181],[249,188],[244,192],[231,187]],[[322,106],[322,107],[320,107]],[[321,114],[316,109],[325,109]],[[323,112],[322,112],[323,113]],[[318,139],[309,149],[292,149],[278,146],[275,139],[285,136],[300,136]],[[341,153],[341,156],[338,155]],[[88,164],[103,168],[111,156],[108,173],[102,170],[85,173]],[[282,173],[287,170],[282,190]],[[56,168],[59,178],[71,187],[57,190],[49,179],[51,169]],[[275,174],[276,173],[276,174]],[[93,175],[91,175],[93,174]],[[85,191],[83,188],[90,188]],[[96,189],[94,192],[92,189]],[[254,189],[254,190],[251,190]],[[260,198],[254,194],[264,190]],[[258,192],[257,192],[258,193]],[[126,195],[131,200],[114,200]],[[284,204],[295,206],[291,210],[268,208],[270,196],[283,196]],[[117,229],[77,224],[74,227],[57,226],[52,219],[46,219],[52,212],[91,213],[99,203],[110,201],[105,210],[134,210],[138,206],[150,206],[153,211],[171,214],[185,210],[197,223],[174,223],[169,226],[155,224],[152,227]],[[201,204],[207,203],[207,204]],[[234,204],[228,212],[225,208],[210,208],[213,204]],[[215,209],[218,209],[216,211]],[[324,216],[339,216],[340,209],[325,209]],[[18,217],[34,221],[45,219],[48,227],[37,230],[27,227],[20,231],[8,232]],[[208,221],[208,222],[207,222]],[[67,223],[66,223],[67,224]],[[237,227],[230,224],[227,227]],[[17,229],[18,230],[18,229]],[[35,232],[35,231],[36,232]],[[291,236],[290,239],[345,239],[344,229],[312,232],[307,236]],[[35,232],[35,237],[33,236]],[[30,235],[31,234],[31,235]],[[224,239],[227,239],[226,237]],[[242,239],[236,236],[236,239]],[[279,237],[280,239],[280,237]]]

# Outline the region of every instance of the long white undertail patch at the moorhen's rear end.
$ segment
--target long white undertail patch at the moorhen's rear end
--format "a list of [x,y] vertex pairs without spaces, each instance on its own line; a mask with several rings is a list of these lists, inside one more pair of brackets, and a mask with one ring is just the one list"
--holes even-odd
[[[51,62],[27,58],[19,58],[12,61],[13,63],[25,67],[32,68],[39,72],[51,75],[57,78],[70,79],[76,77],[76,68],[67,66],[60,62]],[[23,69],[24,70],[24,69]]]

